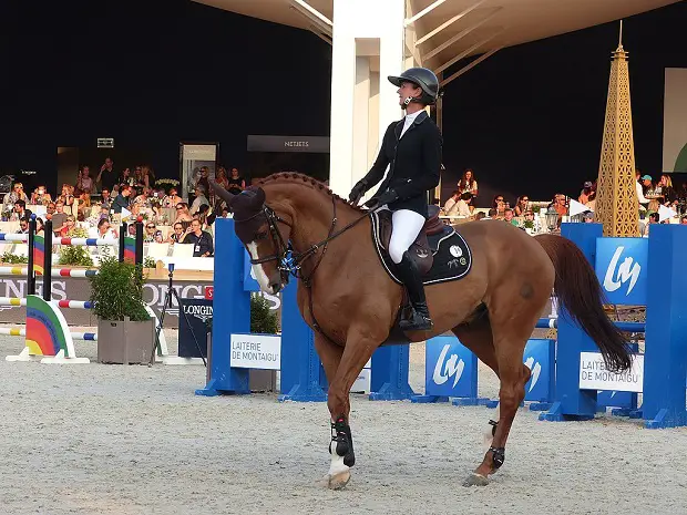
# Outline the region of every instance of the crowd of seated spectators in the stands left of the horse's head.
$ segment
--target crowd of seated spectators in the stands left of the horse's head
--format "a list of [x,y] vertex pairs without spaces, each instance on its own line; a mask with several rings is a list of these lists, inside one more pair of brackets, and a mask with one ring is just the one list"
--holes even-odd
[[[92,174],[88,165],[81,166],[74,184],[63,184],[54,196],[44,185],[28,194],[22,183],[14,183],[2,198],[2,219],[18,220],[18,231],[27,233],[32,215],[27,206],[42,206],[34,208],[41,212],[37,213],[39,234],[44,230],[45,215],[50,215],[54,236],[117,238],[115,219],[133,220],[141,216],[145,243],[193,244],[195,257],[211,257],[213,224],[217,217],[227,217],[228,208],[209,188],[208,172],[207,167],[201,168],[188,203],[178,195],[178,182],[164,179],[156,184],[147,165],[117,171],[107,157],[98,174]],[[227,174],[219,166],[215,181],[233,193],[246,187],[237,168]],[[130,230],[133,234],[135,228]]]

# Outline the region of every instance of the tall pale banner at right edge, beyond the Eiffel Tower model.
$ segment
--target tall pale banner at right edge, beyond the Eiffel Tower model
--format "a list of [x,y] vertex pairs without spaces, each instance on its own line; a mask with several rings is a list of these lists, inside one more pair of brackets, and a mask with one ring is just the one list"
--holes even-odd
[[687,69],[666,68],[663,169],[687,172]]

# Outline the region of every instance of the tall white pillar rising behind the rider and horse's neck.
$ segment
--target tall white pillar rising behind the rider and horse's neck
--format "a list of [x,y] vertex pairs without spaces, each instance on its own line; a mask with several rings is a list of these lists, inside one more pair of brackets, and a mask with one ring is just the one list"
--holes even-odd
[[368,173],[402,117],[387,76],[406,69],[404,19],[406,0],[334,0],[329,185],[338,195]]

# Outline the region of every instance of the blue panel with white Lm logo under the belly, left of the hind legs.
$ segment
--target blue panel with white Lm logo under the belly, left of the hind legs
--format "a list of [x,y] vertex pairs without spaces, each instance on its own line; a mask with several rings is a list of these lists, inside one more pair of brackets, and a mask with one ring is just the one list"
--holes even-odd
[[424,395],[412,402],[478,404],[478,358],[453,336],[434,337],[424,347]]

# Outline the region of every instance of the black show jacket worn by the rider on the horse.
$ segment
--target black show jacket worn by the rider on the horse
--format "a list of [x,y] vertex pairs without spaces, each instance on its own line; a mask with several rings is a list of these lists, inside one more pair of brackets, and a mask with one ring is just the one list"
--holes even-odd
[[399,140],[406,120],[392,122],[384,133],[377,161],[365,176],[370,189],[389,174],[375,194],[393,189],[399,199],[389,204],[389,209],[410,209],[428,217],[427,192],[439,184],[443,137],[439,127],[425,111],[416,117],[403,137]]

